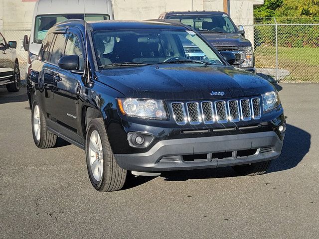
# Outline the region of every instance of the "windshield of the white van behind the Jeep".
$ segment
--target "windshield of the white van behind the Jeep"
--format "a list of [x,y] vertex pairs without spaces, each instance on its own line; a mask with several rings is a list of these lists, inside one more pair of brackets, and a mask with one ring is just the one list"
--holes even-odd
[[[84,14],[38,15],[35,18],[34,42],[41,44],[48,30],[56,23],[68,19],[84,19]],[[86,14],[85,20],[109,20],[108,14]]]

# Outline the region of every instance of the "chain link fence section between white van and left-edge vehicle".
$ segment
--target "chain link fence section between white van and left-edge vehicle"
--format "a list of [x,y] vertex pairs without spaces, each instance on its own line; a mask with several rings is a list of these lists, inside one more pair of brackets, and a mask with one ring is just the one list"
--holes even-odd
[[30,36],[31,30],[1,30],[5,40],[8,41],[16,41],[16,55],[19,61],[20,75],[21,80],[25,80],[26,73],[26,63],[28,53],[23,49],[23,37],[24,35]]

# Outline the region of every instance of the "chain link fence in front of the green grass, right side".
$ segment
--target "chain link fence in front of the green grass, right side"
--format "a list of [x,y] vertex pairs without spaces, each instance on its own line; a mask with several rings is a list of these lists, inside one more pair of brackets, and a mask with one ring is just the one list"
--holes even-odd
[[[257,23],[253,42],[258,75],[277,82],[319,82],[318,23]],[[245,28],[246,28],[245,27]]]

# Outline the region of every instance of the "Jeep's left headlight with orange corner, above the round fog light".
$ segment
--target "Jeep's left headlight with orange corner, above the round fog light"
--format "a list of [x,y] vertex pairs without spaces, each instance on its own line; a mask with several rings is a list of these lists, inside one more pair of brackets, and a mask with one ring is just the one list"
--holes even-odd
[[122,114],[146,119],[167,119],[163,101],[150,99],[118,99]]

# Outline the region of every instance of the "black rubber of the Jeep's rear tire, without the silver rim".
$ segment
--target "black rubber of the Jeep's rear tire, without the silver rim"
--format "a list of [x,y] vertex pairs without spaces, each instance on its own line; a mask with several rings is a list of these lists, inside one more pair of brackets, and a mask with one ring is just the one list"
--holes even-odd
[[[35,132],[35,129],[33,126],[34,123],[36,123],[36,121],[35,121],[36,119],[34,117],[34,111],[35,111],[36,107],[38,107],[37,109],[39,110],[39,120],[40,120],[40,126],[39,126],[40,138],[39,139],[36,136],[37,132]],[[34,140],[35,145],[38,148],[52,148],[52,147],[54,147],[56,144],[57,135],[55,135],[47,130],[46,119],[45,119],[44,114],[43,114],[43,112],[42,112],[42,110],[37,102],[33,103],[31,112],[32,112],[32,116],[31,116],[32,135],[33,135],[33,140]]]

